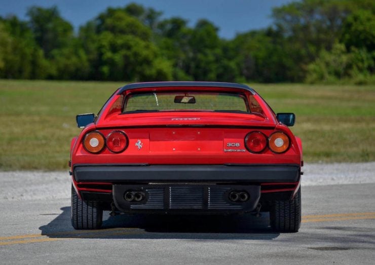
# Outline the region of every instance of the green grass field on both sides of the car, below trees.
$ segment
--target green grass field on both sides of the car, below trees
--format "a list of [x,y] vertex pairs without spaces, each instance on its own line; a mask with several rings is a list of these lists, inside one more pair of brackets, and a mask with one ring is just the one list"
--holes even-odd
[[[124,83],[0,80],[0,170],[67,170],[76,115],[97,113]],[[294,112],[307,162],[375,160],[375,86],[250,84]]]

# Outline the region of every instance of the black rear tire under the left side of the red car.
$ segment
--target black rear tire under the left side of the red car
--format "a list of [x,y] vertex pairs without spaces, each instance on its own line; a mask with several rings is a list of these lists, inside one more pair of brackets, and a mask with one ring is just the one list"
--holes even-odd
[[71,186],[70,217],[74,229],[99,229],[102,224],[103,209],[98,202],[82,201]]

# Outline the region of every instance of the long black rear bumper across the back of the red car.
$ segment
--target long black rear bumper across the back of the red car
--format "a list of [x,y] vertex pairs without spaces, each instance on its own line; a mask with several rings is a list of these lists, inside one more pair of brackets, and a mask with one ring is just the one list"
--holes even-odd
[[78,182],[296,182],[299,164],[148,165],[76,164]]

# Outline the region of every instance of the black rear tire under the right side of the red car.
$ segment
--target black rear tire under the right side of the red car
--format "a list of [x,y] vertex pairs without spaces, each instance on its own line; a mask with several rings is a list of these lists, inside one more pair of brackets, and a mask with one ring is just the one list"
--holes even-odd
[[277,232],[295,233],[301,226],[301,187],[293,200],[275,201],[270,211],[271,227]]

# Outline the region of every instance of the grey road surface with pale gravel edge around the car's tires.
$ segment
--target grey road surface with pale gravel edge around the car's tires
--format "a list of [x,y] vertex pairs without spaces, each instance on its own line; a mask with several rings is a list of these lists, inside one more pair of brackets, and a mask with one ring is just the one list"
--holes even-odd
[[[303,223],[295,234],[273,233],[268,214],[109,217],[105,212],[103,229],[73,230],[70,200],[66,191],[58,192],[69,189],[68,178],[62,180],[61,173],[0,173],[0,263],[373,264],[375,173],[373,163],[357,166],[348,174],[349,169],[333,164],[335,173],[343,172],[333,177],[327,176],[331,168],[308,168],[317,181],[310,183],[304,175]],[[353,184],[353,174],[359,184]],[[319,185],[324,177],[330,185]],[[50,182],[37,188],[37,179]],[[22,191],[22,196],[7,190]]]

